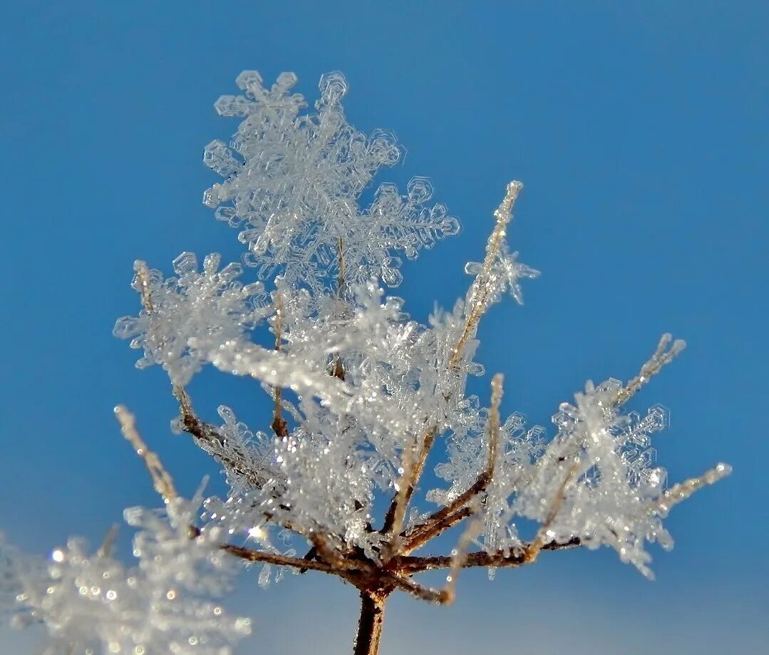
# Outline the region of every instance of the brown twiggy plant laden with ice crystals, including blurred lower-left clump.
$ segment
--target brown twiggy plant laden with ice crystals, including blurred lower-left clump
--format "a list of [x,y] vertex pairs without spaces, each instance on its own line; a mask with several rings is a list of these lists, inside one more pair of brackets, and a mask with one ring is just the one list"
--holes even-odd
[[[321,78],[312,113],[291,92],[295,82],[284,73],[265,88],[257,72],[241,73],[243,94],[215,107],[242,121],[228,143],[205,148],[205,163],[223,180],[204,203],[238,228],[252,281],[241,281],[239,262],[220,268],[218,254],[200,267],[182,253],[170,278],[137,261],[141,309],[115,324],[116,336],[143,351],[139,367],[168,372],[180,408],[172,427],[224,468],[228,495],[178,497],[118,408],[165,500],[162,513],[125,512],[139,530],[138,566],[115,560],[109,544],[89,555],[72,540],[48,560],[2,546],[8,604],[17,622],[45,623],[51,652],[229,652],[248,620],[206,599],[248,564],[261,567],[261,586],[284,570],[315,570],[357,587],[354,651],[371,655],[391,593],[450,603],[464,567],[493,574],[531,564],[543,550],[608,546],[651,577],[646,544],[671,547],[663,526],[671,507],[730,472],[717,464],[666,486],[651,447],[666,412],[624,411],[683,349],[670,334],[627,383],[588,381],[561,404],[553,434],[518,413],[501,417],[500,374],[488,407],[468,395],[468,376],[483,373],[474,361],[481,318],[505,293],[521,303],[521,281],[538,275],[506,238],[521,183],[508,185],[494,211],[483,260],[465,267],[472,281],[464,298],[421,324],[383,286],[400,283],[403,255],[456,234],[457,219],[430,204],[425,178],[404,194],[384,183],[364,196],[378,169],[401,157],[394,137],[348,123],[341,74]],[[225,406],[221,425],[198,417],[185,387],[207,364],[261,383],[273,407],[261,431]],[[423,502],[435,508],[420,514],[412,501],[433,460],[445,484],[427,490]],[[377,516],[375,507],[387,509]],[[459,524],[450,554],[423,554]],[[253,545],[241,545],[245,537]],[[418,574],[434,569],[447,570],[444,587],[420,584]]]

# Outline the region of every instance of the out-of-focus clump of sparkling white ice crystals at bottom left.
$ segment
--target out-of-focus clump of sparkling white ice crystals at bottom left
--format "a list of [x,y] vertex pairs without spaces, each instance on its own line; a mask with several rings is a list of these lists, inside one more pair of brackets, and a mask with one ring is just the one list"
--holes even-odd
[[0,544],[3,592],[15,595],[15,623],[45,623],[45,653],[195,653],[226,655],[251,631],[207,600],[228,589],[238,566],[211,533],[190,538],[197,501],[175,499],[166,515],[139,507],[125,511],[140,530],[138,565],[124,564],[85,541],[70,539],[48,560]]

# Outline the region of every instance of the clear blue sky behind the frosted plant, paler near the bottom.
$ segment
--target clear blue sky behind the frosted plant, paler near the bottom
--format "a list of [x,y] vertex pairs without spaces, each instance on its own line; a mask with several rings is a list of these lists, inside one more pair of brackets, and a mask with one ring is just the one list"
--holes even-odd
[[[464,225],[404,268],[415,318],[464,292],[505,183],[526,185],[509,236],[543,275],[523,308],[498,305],[481,329],[481,360],[506,374],[504,410],[548,424],[586,379],[628,379],[671,331],[689,347],[635,405],[671,410],[659,461],[674,480],[734,465],[671,516],[677,546],[654,550],[656,582],[608,551],[548,555],[493,583],[470,573],[454,607],[391,603],[383,655],[765,647],[767,3],[25,0],[3,12],[0,529],[18,544],[98,544],[123,507],[157,504],[118,402],[181,490],[215,473],[170,434],[168,382],[133,368],[112,324],[137,310],[134,258],[168,271],[183,250],[238,256],[235,231],[201,204],[215,179],[202,148],[234,128],[218,95],[244,68],[266,81],[289,70],[312,101],[338,69],[351,121],[408,148],[384,178],[429,175]],[[248,381],[211,372],[191,392],[208,418],[225,402],[265,421]],[[355,590],[335,580],[263,592],[246,576],[235,600],[256,617],[243,653],[337,655],[355,632]]]

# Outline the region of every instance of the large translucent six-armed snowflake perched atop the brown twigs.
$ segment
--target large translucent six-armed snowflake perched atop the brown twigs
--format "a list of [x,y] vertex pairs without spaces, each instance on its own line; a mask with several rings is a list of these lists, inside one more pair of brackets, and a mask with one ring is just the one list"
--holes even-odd
[[398,255],[415,258],[421,248],[457,234],[459,222],[444,205],[426,205],[432,188],[424,178],[412,179],[406,195],[383,184],[361,208],[378,169],[401,158],[394,136],[366,136],[348,124],[341,73],[321,77],[315,114],[300,114],[307,104],[290,93],[296,80],[283,73],[268,90],[258,72],[244,71],[237,84],[245,95],[218,99],[220,115],[245,120],[229,146],[206,146],[205,163],[225,181],[205,191],[204,202],[217,207],[219,220],[243,228],[243,261],[258,268],[261,279],[282,272],[289,283],[314,291],[374,277],[397,286]]

